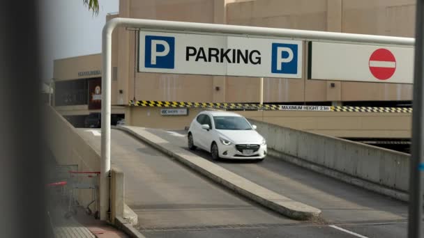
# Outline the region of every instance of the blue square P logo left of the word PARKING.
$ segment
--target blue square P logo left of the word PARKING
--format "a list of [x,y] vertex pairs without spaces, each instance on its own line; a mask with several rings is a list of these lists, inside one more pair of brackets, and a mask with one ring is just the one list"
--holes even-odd
[[175,38],[168,36],[146,35],[144,46],[144,67],[175,68]]

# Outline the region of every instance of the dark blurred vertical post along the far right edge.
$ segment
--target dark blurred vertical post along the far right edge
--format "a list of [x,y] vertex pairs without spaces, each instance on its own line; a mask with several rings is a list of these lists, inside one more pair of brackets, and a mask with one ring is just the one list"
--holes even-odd
[[408,237],[421,237],[421,216],[423,212],[423,191],[421,189],[421,170],[424,155],[424,131],[423,131],[423,10],[424,0],[416,1],[416,41],[414,63],[414,98],[412,114],[412,145],[411,165],[409,173],[409,217]]

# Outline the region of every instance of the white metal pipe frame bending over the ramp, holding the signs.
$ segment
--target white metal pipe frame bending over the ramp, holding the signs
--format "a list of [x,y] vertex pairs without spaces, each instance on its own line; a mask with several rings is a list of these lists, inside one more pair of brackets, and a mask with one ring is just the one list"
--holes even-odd
[[319,40],[335,42],[374,43],[381,45],[413,46],[414,38],[400,38],[384,35],[361,35],[324,31],[303,31],[293,29],[275,29],[256,26],[232,26],[224,24],[206,24],[195,22],[171,22],[151,19],[114,18],[103,27],[102,35],[102,147],[100,160],[100,219],[107,219],[109,209],[109,171],[110,171],[110,107],[111,107],[111,61],[112,31],[117,26],[135,27],[142,30],[184,31],[217,34],[232,34],[249,37],[273,37],[298,40]]

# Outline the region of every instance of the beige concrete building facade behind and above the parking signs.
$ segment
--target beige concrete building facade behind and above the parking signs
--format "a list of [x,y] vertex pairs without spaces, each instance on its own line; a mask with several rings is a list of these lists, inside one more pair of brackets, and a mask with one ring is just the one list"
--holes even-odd
[[[107,18],[414,37],[415,10],[414,0],[121,0],[119,14]],[[114,105],[128,104],[133,99],[259,102],[259,78],[135,72],[137,31],[119,28],[112,37]],[[61,93],[57,89],[64,81],[89,81],[100,77],[100,74],[96,74],[97,70],[101,71],[100,61],[100,54],[55,61],[55,93]],[[412,86],[407,84],[317,81],[305,79],[303,75],[303,79],[264,78],[264,102],[400,102],[409,101],[412,97]],[[56,106],[59,106],[57,101]],[[72,107],[74,114],[75,110],[84,111],[87,108],[84,104],[64,105],[61,110]]]

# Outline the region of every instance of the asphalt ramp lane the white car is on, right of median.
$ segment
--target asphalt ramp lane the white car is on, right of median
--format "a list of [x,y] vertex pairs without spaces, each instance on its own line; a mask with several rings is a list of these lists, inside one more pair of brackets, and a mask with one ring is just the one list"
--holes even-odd
[[[187,148],[185,131],[150,132]],[[209,153],[195,154],[211,160]],[[407,203],[334,180],[275,157],[257,161],[213,161],[252,182],[322,211],[324,221],[364,237],[407,237]]]

